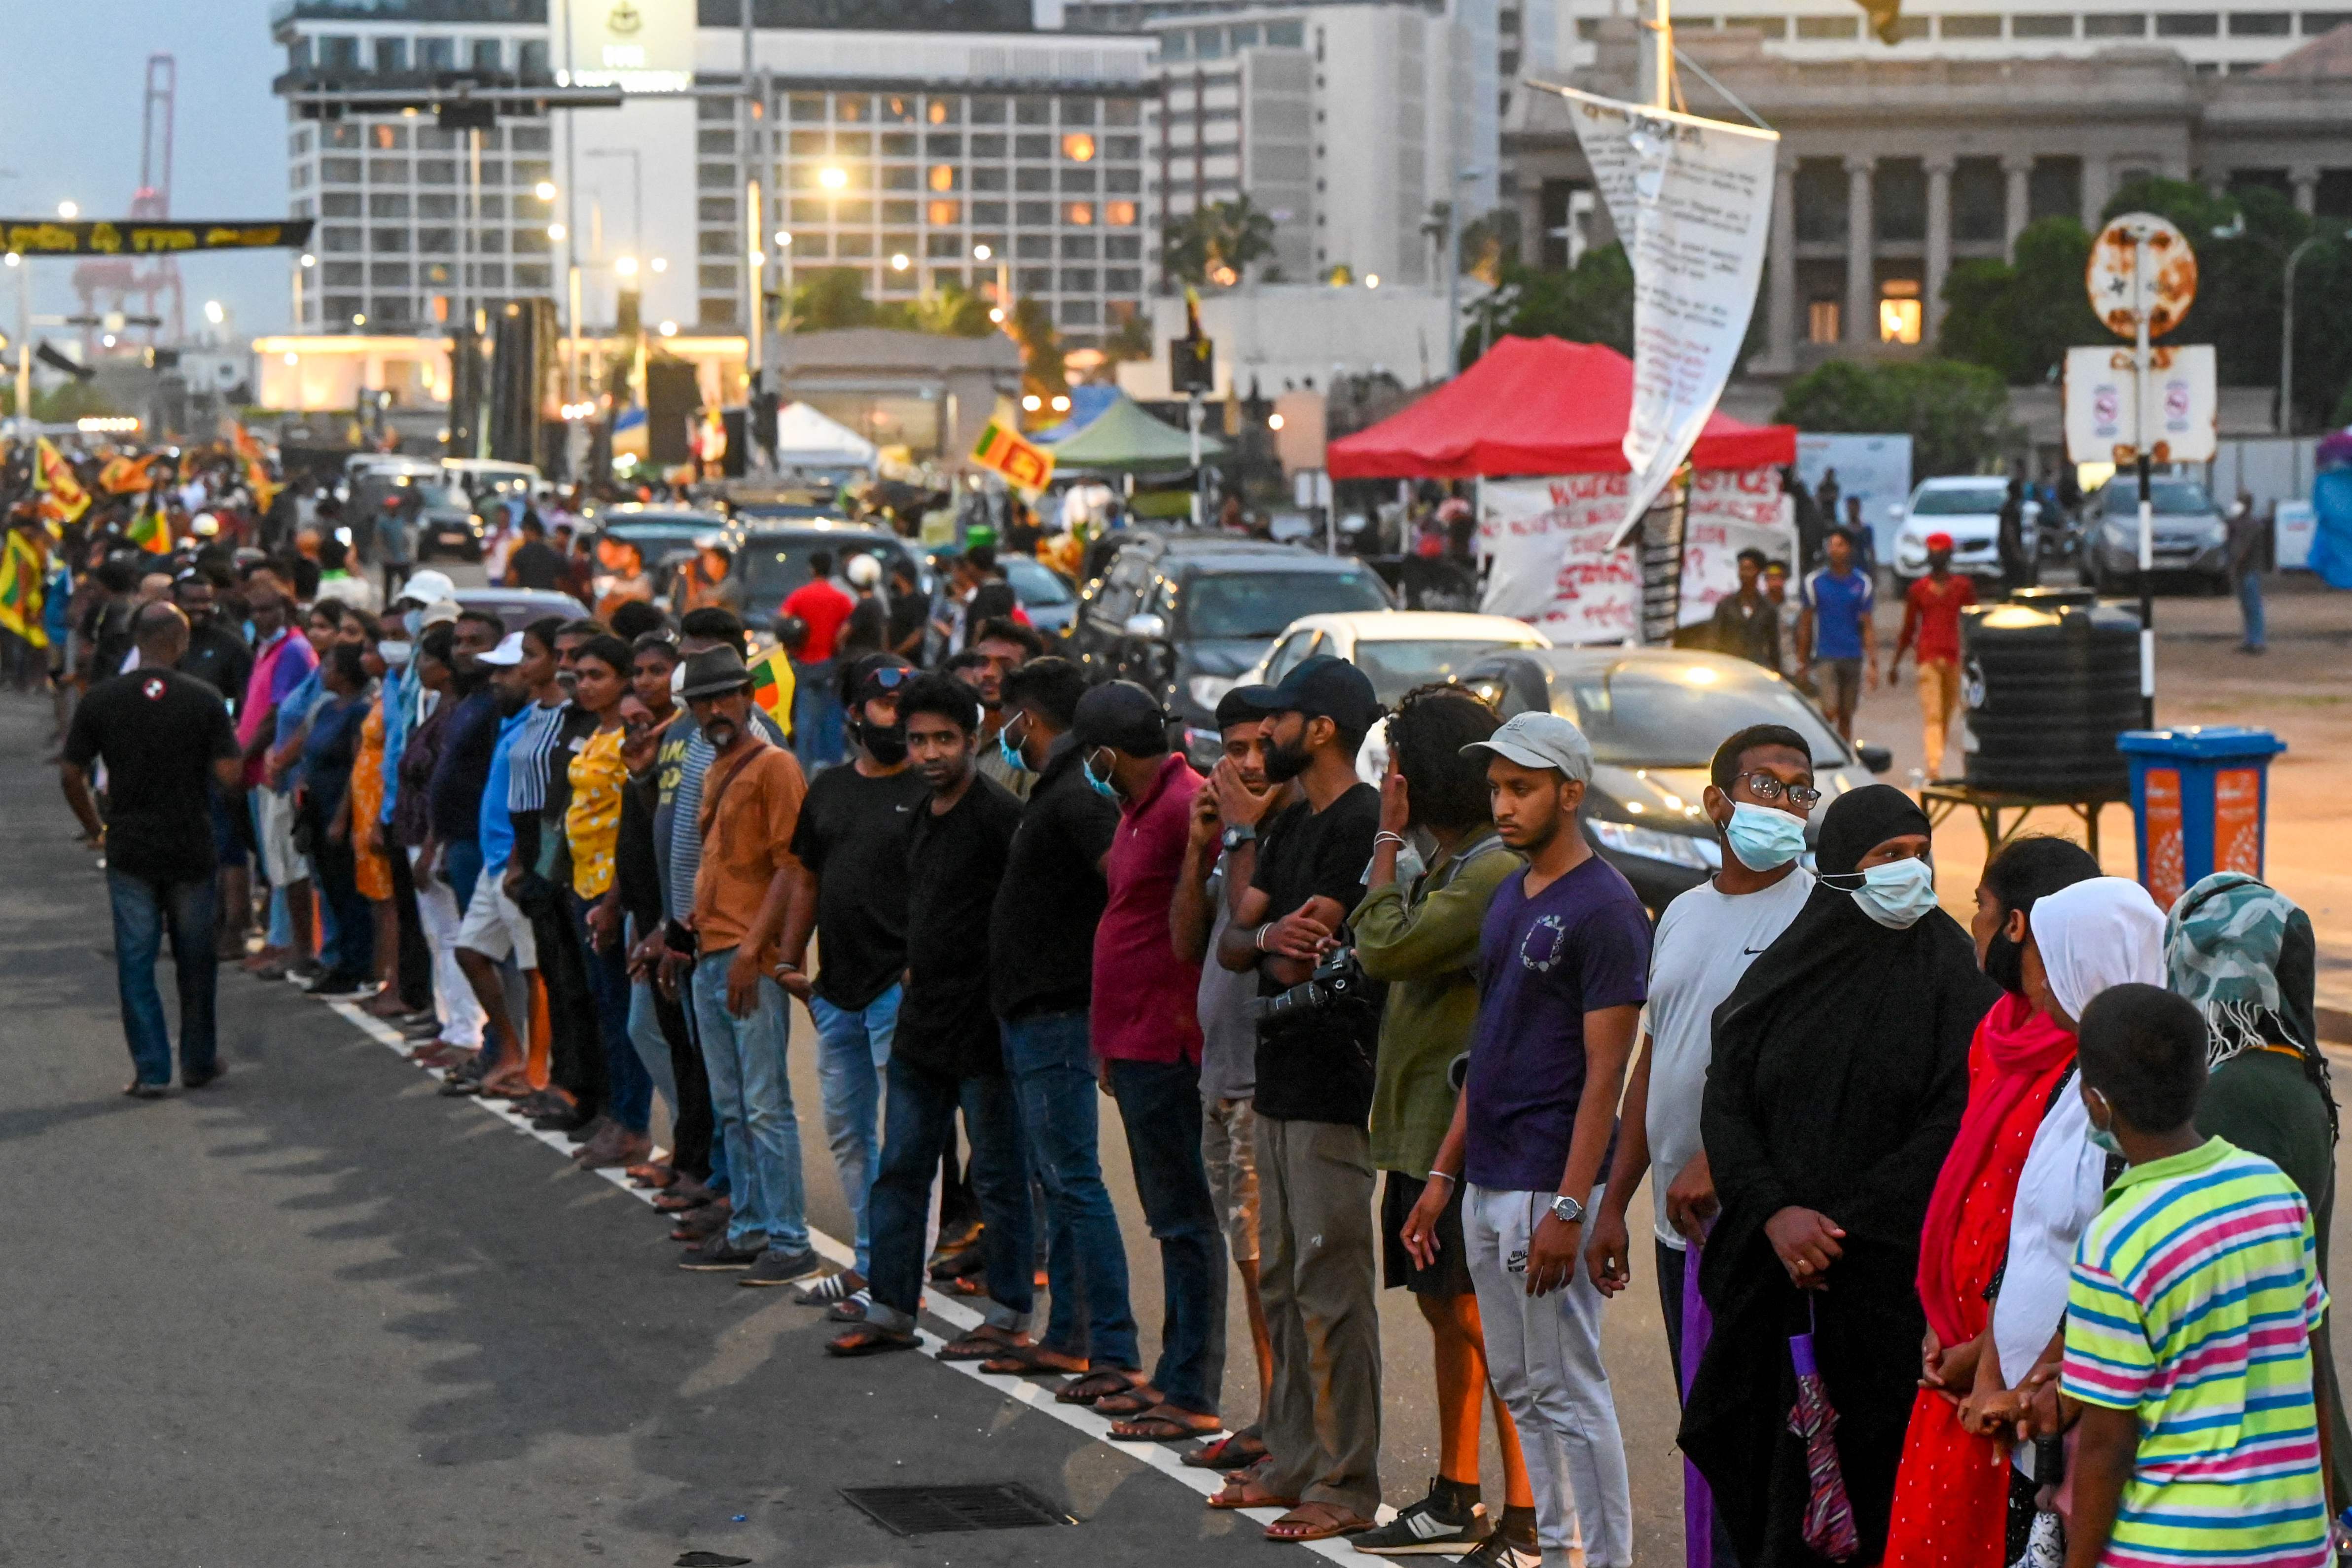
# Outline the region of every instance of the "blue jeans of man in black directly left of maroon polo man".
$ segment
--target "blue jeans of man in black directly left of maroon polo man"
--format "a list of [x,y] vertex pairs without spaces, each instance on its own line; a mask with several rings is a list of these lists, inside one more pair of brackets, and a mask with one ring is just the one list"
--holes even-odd
[[[1094,1056],[1087,1013],[1004,1023],[1004,1074],[1021,1100],[1030,1175],[1044,1187],[1054,1295],[1040,1345],[1087,1356],[1096,1371],[1136,1368],[1136,1314],[1127,1305],[1127,1246],[1096,1154]],[[1200,1091],[1192,1091],[1200,1098]],[[1192,1112],[1200,1143],[1200,1110]],[[1202,1178],[1207,1180],[1207,1178]]]

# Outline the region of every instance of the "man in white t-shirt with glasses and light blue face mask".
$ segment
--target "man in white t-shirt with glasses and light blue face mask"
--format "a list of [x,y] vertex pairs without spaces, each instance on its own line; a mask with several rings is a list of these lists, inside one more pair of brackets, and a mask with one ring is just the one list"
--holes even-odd
[[1698,1103],[1715,1058],[1715,1009],[1813,896],[1813,875],[1797,860],[1804,856],[1806,816],[1820,804],[1811,745],[1780,724],[1755,724],[1724,741],[1708,778],[1703,806],[1724,846],[1724,867],[1665,905],[1658,919],[1646,1048],[1625,1086],[1609,1192],[1585,1244],[1592,1284],[1604,1295],[1623,1291],[1632,1279],[1625,1211],[1642,1175],[1656,1166],[1658,1300],[1677,1389],[1684,1253],[1705,1237],[1717,1211],[1708,1152],[1698,1143]]

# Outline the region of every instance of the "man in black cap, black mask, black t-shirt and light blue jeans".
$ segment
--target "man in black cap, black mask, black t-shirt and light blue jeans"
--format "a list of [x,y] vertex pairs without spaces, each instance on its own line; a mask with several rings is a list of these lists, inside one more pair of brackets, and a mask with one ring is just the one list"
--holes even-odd
[[[929,788],[906,759],[898,689],[915,668],[870,654],[849,668],[849,766],[809,783],[793,827],[793,856],[807,870],[783,917],[776,978],[816,1020],[816,1081],[826,1098],[826,1140],[856,1227],[856,1265],[800,1293],[802,1305],[868,1300],[873,1267],[866,1197],[882,1159],[882,1072],[898,1027],[906,971],[906,835]],[[823,966],[804,971],[809,936]]]

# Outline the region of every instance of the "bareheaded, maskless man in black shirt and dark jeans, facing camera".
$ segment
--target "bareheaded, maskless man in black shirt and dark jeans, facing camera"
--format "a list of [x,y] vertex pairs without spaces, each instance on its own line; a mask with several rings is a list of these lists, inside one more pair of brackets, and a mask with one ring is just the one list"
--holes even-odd
[[981,778],[971,762],[981,705],[969,686],[946,675],[906,682],[898,719],[929,799],[908,813],[913,825],[901,872],[906,999],[891,1037],[882,1168],[868,1197],[873,1305],[866,1321],[835,1335],[828,1349],[835,1356],[870,1356],[915,1347],[931,1180],[962,1110],[988,1258],[985,1324],[950,1345],[969,1359],[1011,1352],[1035,1300],[1028,1161],[1021,1157],[1021,1114],[1004,1079],[997,1020],[988,1011],[985,943],[988,907],[1004,879],[1021,802]]

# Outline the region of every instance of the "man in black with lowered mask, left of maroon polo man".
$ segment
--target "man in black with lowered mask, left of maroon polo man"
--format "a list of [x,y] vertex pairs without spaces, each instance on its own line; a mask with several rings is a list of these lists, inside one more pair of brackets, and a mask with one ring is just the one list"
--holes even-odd
[[[983,644],[988,635],[983,628]],[[1061,1392],[1068,1403],[1141,1382],[1127,1248],[1096,1145],[1087,1027],[1094,929],[1108,898],[1103,856],[1120,809],[1110,778],[1070,736],[1084,691],[1087,677],[1068,658],[1033,658],[1004,675],[1000,738],[1037,783],[988,919],[988,1001],[1004,1027],[1004,1072],[1021,1105],[1030,1171],[1044,1187],[1054,1295],[1044,1335],[1025,1354],[1037,1368],[1080,1373]]]

